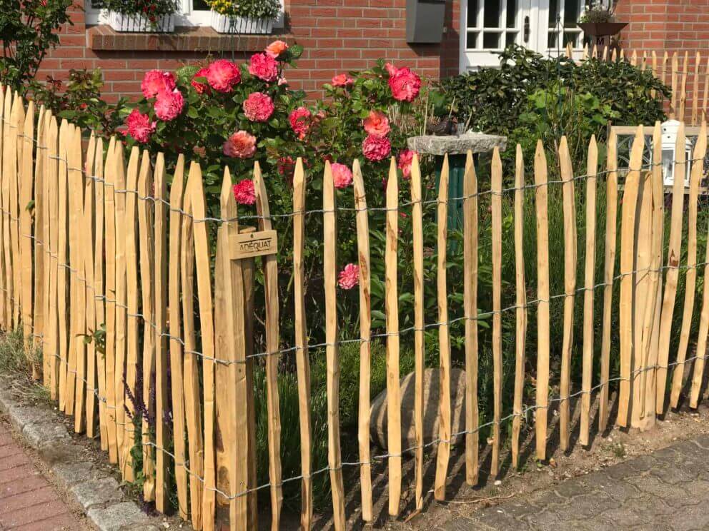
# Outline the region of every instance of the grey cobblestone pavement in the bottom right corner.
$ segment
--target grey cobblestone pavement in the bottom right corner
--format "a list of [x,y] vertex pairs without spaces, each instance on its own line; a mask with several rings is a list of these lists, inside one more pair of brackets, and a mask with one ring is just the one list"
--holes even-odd
[[443,529],[709,530],[709,435],[575,477]]

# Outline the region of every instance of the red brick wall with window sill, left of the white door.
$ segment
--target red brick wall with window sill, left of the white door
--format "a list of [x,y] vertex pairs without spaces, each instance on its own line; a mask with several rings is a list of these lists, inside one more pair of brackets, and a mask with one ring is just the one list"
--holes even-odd
[[175,69],[210,54],[246,59],[275,38],[304,46],[298,69],[289,70],[287,79],[312,98],[334,74],[365,69],[380,57],[438,79],[457,74],[459,1],[447,5],[442,44],[412,46],[405,35],[406,0],[286,0],[284,33],[238,40],[217,36],[211,29],[180,30],[172,36],[114,34],[105,26],[87,27],[83,11],[74,9],[74,26],[61,30],[60,45],[43,62],[39,79],[66,79],[69,69],[101,68],[106,99],[135,98],[149,69]]

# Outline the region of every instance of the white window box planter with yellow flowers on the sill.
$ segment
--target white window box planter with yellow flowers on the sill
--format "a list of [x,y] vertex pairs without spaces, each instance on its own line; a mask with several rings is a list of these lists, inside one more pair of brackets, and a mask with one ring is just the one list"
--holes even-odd
[[280,0],[210,0],[212,28],[222,34],[269,34]]

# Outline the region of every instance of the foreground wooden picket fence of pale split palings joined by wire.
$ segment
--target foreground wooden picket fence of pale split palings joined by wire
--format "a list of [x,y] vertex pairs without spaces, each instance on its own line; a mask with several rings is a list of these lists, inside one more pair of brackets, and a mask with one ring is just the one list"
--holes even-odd
[[[253,235],[252,228],[241,231],[237,205],[232,194],[232,178],[224,168],[219,219],[206,211],[202,173],[197,163],[180,156],[167,189],[164,156],[152,156],[134,147],[124,158],[124,146],[116,138],[104,141],[67,121],[58,121],[49,111],[34,108],[7,87],[2,87],[4,104],[1,145],[0,216],[0,326],[4,330],[22,326],[28,355],[41,349],[41,378],[59,410],[74,418],[76,433],[99,438],[109,460],[119,465],[125,480],[134,477],[131,450],[142,440],[144,497],[167,510],[169,489],[177,491],[179,515],[196,529],[214,529],[217,497],[229,505],[232,530],[253,529],[257,520],[257,493],[270,490],[272,528],[279,527],[284,480],[297,479],[302,488],[301,524],[312,525],[312,477],[329,472],[332,487],[332,522],[338,530],[347,525],[345,515],[343,462],[339,423],[339,331],[337,316],[336,193],[329,163],[324,171],[323,261],[325,349],[327,355],[328,466],[313,470],[312,418],[310,408],[309,348],[304,298],[304,233],[307,178],[302,161],[297,161],[293,182],[293,286],[294,353],[297,365],[301,471],[297,478],[282,477],[277,373],[282,343],[279,333],[278,257],[268,254],[260,261],[237,252],[239,241]],[[643,162],[645,136],[651,137],[652,163]],[[370,344],[372,341],[370,303],[370,228],[365,194],[365,176],[357,161],[353,164],[356,207],[357,248],[360,263],[360,396],[359,468],[362,518],[371,521],[372,462],[386,461],[388,500],[391,515],[400,512],[402,462],[412,450],[415,462],[415,507],[423,506],[425,493],[433,487],[437,500],[445,500],[449,477],[451,445],[457,435],[465,435],[465,477],[474,485],[480,472],[482,428],[491,428],[490,473],[500,470],[502,435],[500,426],[512,420],[512,464],[520,460],[522,422],[533,422],[536,456],[545,460],[550,433],[547,413],[558,407],[560,447],[570,447],[572,398],[580,398],[580,442],[590,443],[592,399],[599,403],[598,423],[603,431],[610,421],[611,382],[619,383],[618,415],[615,423],[648,429],[656,415],[667,406],[665,391],[671,378],[669,404],[678,405],[683,387],[684,365],[694,362],[690,385],[690,405],[700,400],[706,340],[709,332],[709,290],[703,290],[700,328],[695,356],[687,356],[690,324],[693,319],[697,269],[703,266],[709,278],[708,256],[697,262],[698,190],[704,177],[707,147],[705,123],[698,133],[692,160],[685,158],[685,128],[677,138],[675,172],[684,175],[691,167],[688,210],[683,204],[685,189],[681,178],[672,189],[670,239],[663,256],[665,190],[662,185],[660,127],[650,131],[638,126],[627,168],[618,166],[618,136],[608,141],[606,170],[599,171],[595,139],[588,146],[587,167],[581,176],[574,173],[567,141],[562,138],[556,153],[560,166],[550,172],[542,143],[537,144],[533,178],[525,176],[521,148],[517,147],[514,186],[503,188],[499,151],[492,156],[490,188],[479,191],[475,166],[468,154],[465,167],[463,202],[465,278],[465,431],[452,433],[450,370],[451,338],[448,315],[447,249],[450,206],[448,159],[443,163],[437,198],[437,323],[425,323],[424,234],[422,176],[415,158],[410,181],[412,234],[398,230],[400,193],[395,161],[392,161],[386,191],[386,338],[387,349],[387,429],[388,451],[373,457],[370,448]],[[556,160],[556,159],[555,159]],[[560,180],[548,178],[550,173]],[[623,186],[619,184],[619,178]],[[596,188],[603,179],[606,187],[605,235],[596,233]],[[529,182],[528,182],[529,181]],[[577,181],[582,184],[577,190]],[[550,293],[549,221],[547,196],[550,186],[562,187],[564,213],[565,289]],[[254,167],[259,235],[272,231],[272,216],[259,166]],[[525,282],[524,191],[535,200],[537,227],[537,285]],[[347,193],[340,191],[338,193]],[[406,191],[409,193],[409,191]],[[502,308],[502,196],[514,198],[515,306]],[[585,268],[578,278],[576,196],[585,195]],[[479,198],[490,196],[490,227],[481,227]],[[622,207],[619,210],[619,200]],[[290,213],[289,213],[290,214]],[[688,229],[683,234],[683,221]],[[217,228],[214,274],[210,269],[208,224]],[[617,233],[617,229],[620,233]],[[490,231],[492,241],[492,358],[493,418],[479,422],[477,396],[478,356],[478,242],[482,231]],[[605,238],[603,279],[595,278],[595,245]],[[687,242],[686,263],[680,264],[683,239]],[[399,289],[397,287],[397,246],[410,242],[414,275],[415,353],[415,433],[417,445],[401,445],[399,390]],[[616,270],[616,251],[620,270]],[[665,265],[663,265],[665,263]],[[263,272],[264,301],[254,300],[254,275]],[[530,264],[527,264],[529,267]],[[686,297],[680,329],[680,348],[670,356],[672,315],[680,272],[685,275]],[[197,292],[195,293],[195,279]],[[603,288],[603,327],[593,325],[595,288]],[[613,299],[613,287],[620,283],[620,299]],[[582,285],[581,288],[579,286]],[[527,300],[528,293],[535,300]],[[582,385],[572,392],[572,348],[575,295],[583,298]],[[564,304],[560,394],[550,390],[550,300],[562,297]],[[197,300],[197,308],[194,301]],[[266,353],[254,353],[254,305],[265,304]],[[620,375],[611,378],[611,328],[613,308],[620,309]],[[290,309],[287,309],[290,310]],[[515,315],[515,385],[512,414],[502,415],[502,313]],[[537,330],[530,334],[527,318],[536,312]],[[196,317],[199,330],[196,329]],[[557,323],[553,323],[557,324]],[[424,330],[435,328],[439,338],[440,433],[427,444],[436,451],[434,485],[424,477]],[[84,341],[85,335],[104,330],[105,342]],[[197,337],[202,348],[197,352]],[[600,380],[594,382],[594,343],[600,335]],[[534,341],[533,338],[536,338]],[[525,352],[534,343],[537,357],[534,404],[524,405]],[[322,346],[322,345],[321,345]],[[142,347],[142,350],[139,349]],[[265,360],[268,408],[269,484],[256,485],[254,420],[254,360]],[[674,359],[670,363],[670,358]],[[169,373],[168,373],[169,365]],[[668,369],[676,367],[673,373]],[[41,368],[41,370],[40,370]],[[142,381],[139,381],[142,374]],[[154,374],[154,382],[150,375]],[[556,378],[556,375],[554,375]],[[169,393],[168,390],[172,390]],[[218,392],[217,392],[218,391]],[[137,397],[142,397],[142,402]],[[164,412],[172,410],[169,422]],[[154,416],[155,432],[150,433],[144,409]],[[527,413],[535,412],[534,420]],[[139,421],[134,422],[132,418]],[[142,419],[142,420],[141,420]],[[172,441],[172,450],[169,443]],[[217,443],[219,441],[219,443]],[[174,487],[169,485],[168,467],[174,467]]]

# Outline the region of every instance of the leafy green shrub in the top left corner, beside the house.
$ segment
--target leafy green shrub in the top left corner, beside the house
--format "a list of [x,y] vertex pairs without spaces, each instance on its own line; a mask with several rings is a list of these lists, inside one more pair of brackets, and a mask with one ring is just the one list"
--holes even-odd
[[0,78],[20,89],[33,79],[49,49],[59,44],[56,30],[71,24],[71,0],[5,0],[0,9]]

